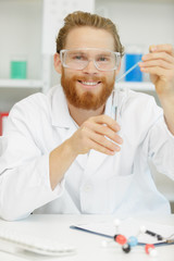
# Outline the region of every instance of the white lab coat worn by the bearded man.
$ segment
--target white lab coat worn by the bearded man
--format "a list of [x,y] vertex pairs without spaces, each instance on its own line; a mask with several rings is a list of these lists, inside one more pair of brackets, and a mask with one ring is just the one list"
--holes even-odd
[[[121,152],[95,150],[76,158],[52,191],[49,153],[77,129],[61,86],[36,94],[10,112],[1,137],[0,216],[17,220],[34,213],[115,214],[120,217],[170,213],[157,190],[148,160],[174,178],[174,137],[154,99],[129,91],[120,97]],[[111,115],[111,98],[105,114]]]

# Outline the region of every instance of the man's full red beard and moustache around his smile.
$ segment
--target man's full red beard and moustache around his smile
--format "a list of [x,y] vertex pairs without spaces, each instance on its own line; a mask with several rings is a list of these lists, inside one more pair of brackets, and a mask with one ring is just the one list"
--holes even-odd
[[105,77],[99,78],[97,76],[94,76],[92,78],[90,78],[90,80],[101,82],[102,84],[101,90],[98,91],[97,95],[88,90],[79,95],[75,86],[77,80],[88,82],[89,77],[74,76],[72,78],[69,78],[65,77],[64,70],[62,70],[61,85],[63,87],[63,91],[66,96],[67,101],[72,105],[84,110],[97,110],[105,103],[107,99],[111,95],[114,86],[114,79],[115,78],[113,76],[112,80],[107,82]]

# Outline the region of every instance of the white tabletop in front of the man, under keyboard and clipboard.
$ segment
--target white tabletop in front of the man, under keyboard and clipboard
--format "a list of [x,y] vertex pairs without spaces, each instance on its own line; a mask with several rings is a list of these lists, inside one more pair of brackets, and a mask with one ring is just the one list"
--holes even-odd
[[[174,225],[174,215],[148,219],[161,224]],[[108,215],[30,215],[28,219],[17,222],[5,222],[0,220],[3,226],[10,227],[18,233],[28,235],[44,236],[58,239],[59,241],[73,245],[77,248],[77,253],[70,257],[50,258],[36,254],[25,254],[24,257],[12,256],[0,251],[1,261],[22,261],[22,260],[44,260],[44,261],[174,261],[174,245],[158,247],[158,256],[149,257],[144,248],[138,246],[129,253],[124,253],[120,247],[103,248],[101,241],[104,237],[70,228],[76,223],[88,223],[98,221],[113,221],[113,216]]]

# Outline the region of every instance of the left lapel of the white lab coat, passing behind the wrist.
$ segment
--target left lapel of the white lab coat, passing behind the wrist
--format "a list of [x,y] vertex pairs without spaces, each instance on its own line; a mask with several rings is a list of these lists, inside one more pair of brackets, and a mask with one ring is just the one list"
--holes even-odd
[[[62,142],[69,139],[76,130],[77,126],[70,115],[65,96],[62,87],[54,87],[54,94],[51,97],[52,125],[59,129]],[[86,166],[86,156],[80,154],[75,160],[82,169]]]

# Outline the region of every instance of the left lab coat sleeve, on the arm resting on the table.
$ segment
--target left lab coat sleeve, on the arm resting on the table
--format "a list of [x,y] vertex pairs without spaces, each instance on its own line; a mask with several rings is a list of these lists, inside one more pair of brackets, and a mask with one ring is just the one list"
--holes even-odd
[[0,138],[0,216],[23,219],[60,197],[63,187],[64,179],[51,189],[49,151],[41,153],[25,122],[25,112],[14,107]]

